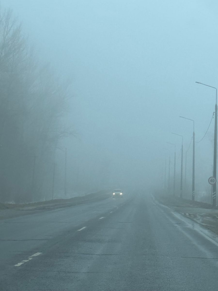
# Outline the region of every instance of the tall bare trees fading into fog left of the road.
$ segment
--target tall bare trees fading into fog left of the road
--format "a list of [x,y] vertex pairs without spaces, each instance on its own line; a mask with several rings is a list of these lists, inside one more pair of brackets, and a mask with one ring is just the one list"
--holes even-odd
[[28,46],[12,11],[0,12],[0,202],[51,198],[68,85]]

